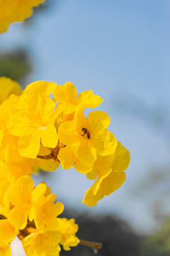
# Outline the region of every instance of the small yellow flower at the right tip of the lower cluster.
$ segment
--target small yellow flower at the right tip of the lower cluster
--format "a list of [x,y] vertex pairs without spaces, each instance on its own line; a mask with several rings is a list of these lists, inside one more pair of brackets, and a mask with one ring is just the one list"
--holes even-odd
[[67,218],[61,218],[61,220],[60,232],[62,234],[62,240],[60,244],[64,250],[70,250],[70,246],[77,246],[79,244],[79,238],[76,237],[79,227],[75,224],[74,219],[67,220]]

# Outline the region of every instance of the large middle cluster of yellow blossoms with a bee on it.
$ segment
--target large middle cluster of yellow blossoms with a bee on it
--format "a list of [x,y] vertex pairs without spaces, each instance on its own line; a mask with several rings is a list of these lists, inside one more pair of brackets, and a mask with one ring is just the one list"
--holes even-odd
[[74,166],[95,180],[83,203],[96,206],[122,185],[130,163],[129,151],[108,131],[108,114],[97,110],[84,116],[86,108],[101,102],[93,90],[77,95],[72,82],[37,81],[21,95],[12,94],[0,106],[1,176],[15,182],[38,169]]

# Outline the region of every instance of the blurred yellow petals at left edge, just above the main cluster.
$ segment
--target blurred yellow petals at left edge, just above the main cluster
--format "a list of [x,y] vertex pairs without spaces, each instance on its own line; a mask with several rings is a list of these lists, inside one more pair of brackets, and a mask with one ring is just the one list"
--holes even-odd
[[[0,4],[1,6],[1,4]],[[4,102],[11,94],[21,95],[22,89],[18,82],[11,78],[0,78],[0,104]]]

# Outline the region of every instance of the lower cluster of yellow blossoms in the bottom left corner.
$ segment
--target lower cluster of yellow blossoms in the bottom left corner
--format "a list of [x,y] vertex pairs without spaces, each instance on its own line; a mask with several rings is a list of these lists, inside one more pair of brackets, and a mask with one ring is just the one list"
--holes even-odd
[[10,256],[10,243],[16,235],[23,243],[27,256],[57,256],[64,250],[77,246],[78,225],[74,219],[58,218],[64,210],[55,203],[56,195],[50,193],[45,183],[34,186],[30,176],[21,176],[10,183],[0,181],[0,255]]

